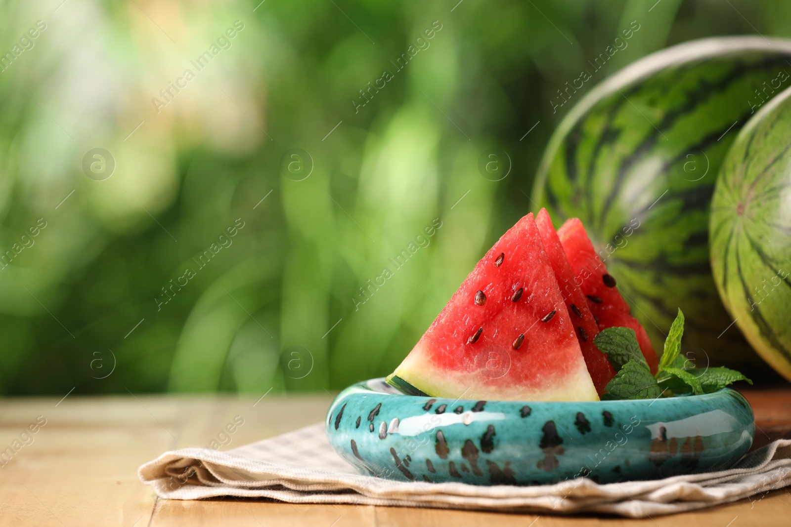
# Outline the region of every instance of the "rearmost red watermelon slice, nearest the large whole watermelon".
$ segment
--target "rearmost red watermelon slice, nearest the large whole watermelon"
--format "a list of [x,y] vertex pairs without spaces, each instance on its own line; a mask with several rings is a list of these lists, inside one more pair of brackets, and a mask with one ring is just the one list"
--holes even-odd
[[585,227],[578,218],[570,218],[558,229],[558,237],[566,251],[571,269],[577,277],[582,292],[588,299],[588,307],[597,318],[599,330],[621,326],[634,329],[640,350],[648,361],[651,371],[656,373],[659,360],[653,351],[645,328],[630,314],[629,304],[623,299],[607,267],[596,254]]

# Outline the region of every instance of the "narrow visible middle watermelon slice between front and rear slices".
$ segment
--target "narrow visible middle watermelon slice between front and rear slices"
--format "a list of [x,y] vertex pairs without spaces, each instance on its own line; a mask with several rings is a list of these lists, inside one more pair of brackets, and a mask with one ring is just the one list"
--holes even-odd
[[607,354],[600,352],[593,344],[593,337],[599,333],[596,320],[588,307],[588,299],[582,292],[580,286],[571,270],[566,253],[558,238],[558,233],[554,232],[552,219],[547,213],[547,209],[541,209],[536,216],[536,226],[543,241],[544,250],[547,251],[550,265],[554,271],[554,277],[558,280],[563,301],[569,312],[569,318],[577,329],[577,341],[580,343],[582,356],[585,357],[585,364],[588,365],[588,372],[591,375],[593,386],[601,395],[604,387],[615,377],[615,370],[607,359]]

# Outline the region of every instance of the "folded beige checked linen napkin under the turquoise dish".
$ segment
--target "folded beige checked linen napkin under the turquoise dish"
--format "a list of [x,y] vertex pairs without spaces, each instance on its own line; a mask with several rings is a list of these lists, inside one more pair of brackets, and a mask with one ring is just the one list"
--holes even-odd
[[324,423],[225,452],[183,448],[166,452],[138,471],[161,498],[215,496],[270,498],[288,503],[348,503],[445,509],[596,512],[644,518],[701,509],[791,485],[791,440],[747,454],[732,469],[664,480],[596,484],[479,487],[361,476],[335,454]]

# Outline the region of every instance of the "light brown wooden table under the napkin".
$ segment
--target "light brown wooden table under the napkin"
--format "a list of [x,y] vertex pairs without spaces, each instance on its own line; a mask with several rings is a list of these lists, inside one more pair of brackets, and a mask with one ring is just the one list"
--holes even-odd
[[[755,406],[756,440],[791,431],[791,390],[747,393]],[[327,395],[168,397],[111,396],[5,399],[0,404],[0,525],[626,525],[742,527],[791,525],[791,492],[774,491],[690,514],[645,519],[489,514],[374,506],[290,505],[264,500],[157,499],[138,480],[138,466],[165,450],[221,442],[235,416],[244,424],[229,436],[233,448],[322,420]],[[37,416],[43,416],[36,434]],[[237,418],[238,421],[238,418]],[[28,430],[25,435],[22,432]],[[766,434],[764,434],[766,432]],[[28,444],[25,444],[28,442]],[[227,442],[227,440],[225,441]],[[2,454],[0,454],[2,455]],[[538,519],[536,519],[538,518]],[[535,521],[535,522],[534,522]],[[532,523],[534,522],[534,523]]]

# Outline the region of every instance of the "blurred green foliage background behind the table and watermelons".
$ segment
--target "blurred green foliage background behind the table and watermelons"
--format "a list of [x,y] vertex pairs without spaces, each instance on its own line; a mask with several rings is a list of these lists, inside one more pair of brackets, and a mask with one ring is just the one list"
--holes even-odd
[[457,1],[0,1],[0,392],[386,375],[534,209],[550,101],[622,29],[583,92],[791,35],[784,0]]

